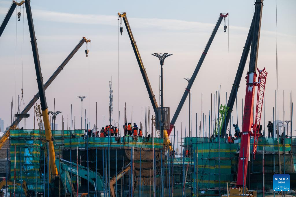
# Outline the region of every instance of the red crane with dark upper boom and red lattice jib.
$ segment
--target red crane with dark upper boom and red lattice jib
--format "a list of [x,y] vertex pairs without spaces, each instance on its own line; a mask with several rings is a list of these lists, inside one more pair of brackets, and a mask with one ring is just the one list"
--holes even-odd
[[[258,60],[258,47],[259,47],[259,38],[260,38],[260,26],[261,26],[261,16],[262,16],[262,7],[263,7],[263,0],[256,0],[255,2],[255,12],[254,12],[254,19],[253,19],[253,29],[252,29],[252,46],[251,46],[251,53],[250,53],[250,64],[249,70],[246,76],[246,95],[245,95],[245,104],[244,104],[244,119],[242,123],[242,137],[241,137],[241,144],[239,149],[239,159],[238,159],[238,167],[237,167],[237,180],[234,187],[230,188],[230,195],[231,197],[234,196],[252,196],[256,197],[256,191],[248,191],[246,187],[246,178],[247,178],[247,169],[248,169],[248,161],[250,156],[250,137],[256,136],[258,137],[257,133],[257,125],[260,125],[260,117],[261,117],[261,109],[262,103],[264,98],[264,89],[265,89],[265,82],[266,82],[266,71],[258,70],[259,71],[259,78],[258,82],[256,82],[256,70],[257,70],[257,60]],[[258,87],[258,94],[257,94],[257,106],[256,106],[256,122],[255,122],[255,131],[252,132],[252,121],[253,121],[253,104],[254,104],[254,96],[255,96],[255,87]],[[262,101],[262,103],[261,103]],[[257,140],[254,139],[254,146],[256,148],[253,149],[253,153],[255,154],[257,150]],[[256,143],[256,144],[255,144]]]

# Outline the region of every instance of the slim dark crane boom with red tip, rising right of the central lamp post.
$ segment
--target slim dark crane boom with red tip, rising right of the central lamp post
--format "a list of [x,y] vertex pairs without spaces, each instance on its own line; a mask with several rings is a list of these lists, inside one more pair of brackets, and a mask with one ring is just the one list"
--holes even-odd
[[219,28],[219,25],[221,24],[222,19],[224,17],[227,17],[227,16],[228,16],[228,13],[225,14],[225,15],[223,15],[223,14],[220,14],[219,15],[218,21],[217,21],[217,23],[216,23],[216,25],[214,27],[214,30],[213,30],[213,32],[212,32],[212,34],[210,36],[210,39],[208,40],[207,45],[205,46],[205,49],[202,52],[202,55],[200,57],[200,60],[197,63],[197,66],[196,66],[196,68],[195,68],[195,70],[194,70],[194,72],[192,74],[192,77],[191,77],[191,79],[190,79],[190,81],[189,81],[189,83],[188,83],[188,85],[187,85],[187,87],[185,89],[185,92],[184,92],[184,94],[183,94],[183,96],[182,96],[182,98],[180,100],[180,103],[179,103],[179,105],[178,105],[178,107],[176,109],[176,112],[175,112],[175,114],[173,116],[173,119],[170,122],[170,129],[167,131],[168,132],[168,136],[170,136],[170,133],[172,132],[172,129],[174,127],[174,124],[176,123],[176,120],[178,118],[178,115],[179,115],[179,113],[180,113],[180,111],[181,111],[181,109],[182,109],[182,107],[184,105],[184,102],[185,102],[185,100],[186,100],[186,98],[187,98],[187,96],[189,94],[189,91],[190,91],[190,89],[191,89],[191,87],[193,85],[193,82],[194,82],[194,80],[195,80],[195,78],[197,76],[197,73],[200,70],[200,67],[202,66],[202,62],[204,61],[205,56],[207,55],[207,52],[208,52],[208,50],[209,50],[209,48],[210,48],[210,46],[211,46],[211,44],[213,42],[213,39],[214,39],[214,37],[215,37],[215,35],[217,33],[217,30]]

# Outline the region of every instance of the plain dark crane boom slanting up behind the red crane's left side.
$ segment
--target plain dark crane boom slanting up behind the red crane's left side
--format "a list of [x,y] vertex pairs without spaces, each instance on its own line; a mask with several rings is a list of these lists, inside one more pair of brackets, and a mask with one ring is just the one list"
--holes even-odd
[[254,17],[255,17],[255,14],[254,14],[252,22],[251,22],[251,26],[250,26],[249,33],[248,33],[248,36],[247,36],[247,40],[246,40],[246,43],[244,44],[244,48],[243,48],[243,51],[242,51],[242,56],[241,56],[241,59],[239,61],[239,66],[237,68],[237,74],[235,75],[234,82],[232,84],[231,92],[230,92],[230,95],[229,95],[229,99],[228,99],[228,102],[227,102],[227,107],[229,107],[229,109],[228,109],[228,113],[226,115],[225,122],[223,123],[223,126],[222,126],[222,137],[225,136],[226,128],[228,126],[229,119],[231,118],[231,112],[233,110],[233,105],[234,105],[234,102],[235,102],[235,100],[237,98],[237,90],[239,88],[239,83],[241,82],[242,74],[244,72],[244,66],[246,65],[247,58],[248,58],[248,55],[249,55],[250,46],[251,46],[251,43],[252,43]]

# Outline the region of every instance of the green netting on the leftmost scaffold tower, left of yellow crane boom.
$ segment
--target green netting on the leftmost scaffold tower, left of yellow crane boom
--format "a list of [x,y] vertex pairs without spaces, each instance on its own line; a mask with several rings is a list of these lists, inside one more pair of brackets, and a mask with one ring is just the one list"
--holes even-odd
[[[44,175],[39,171],[43,148],[39,131],[10,130],[10,135],[10,180],[25,180],[28,190],[43,191]],[[16,187],[16,193],[20,192],[22,188]]]

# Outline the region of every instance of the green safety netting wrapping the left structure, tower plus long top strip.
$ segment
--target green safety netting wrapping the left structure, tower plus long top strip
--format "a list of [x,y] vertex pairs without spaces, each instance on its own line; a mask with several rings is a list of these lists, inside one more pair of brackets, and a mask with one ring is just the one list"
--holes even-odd
[[[74,134],[75,138],[71,138]],[[89,148],[95,147],[137,147],[152,148],[152,138],[138,137],[82,137],[84,130],[53,130],[55,153],[59,154],[59,149],[63,148],[86,148],[89,141]],[[47,175],[43,173],[44,149],[42,140],[44,131],[40,130],[10,130],[10,157],[11,172],[10,180],[25,180],[28,190],[35,192],[44,191],[44,180]],[[163,148],[163,139],[154,138],[154,147]],[[16,148],[15,148],[16,147]],[[15,167],[14,167],[15,165]],[[47,170],[47,169],[46,169]],[[14,178],[15,174],[15,178]],[[47,183],[46,183],[47,184]],[[10,187],[9,189],[13,189]],[[16,187],[16,193],[21,193],[22,189]]]

